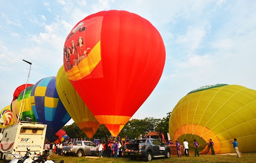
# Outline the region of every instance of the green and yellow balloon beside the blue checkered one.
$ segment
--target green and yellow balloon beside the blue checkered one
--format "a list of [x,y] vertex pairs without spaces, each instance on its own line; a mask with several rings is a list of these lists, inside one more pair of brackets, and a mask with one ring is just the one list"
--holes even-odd
[[[23,121],[26,121],[26,118],[29,117],[29,118],[32,119],[32,122],[36,122],[35,115],[34,115],[34,112],[32,110],[31,102],[30,102],[30,93],[32,91],[33,86],[34,85],[29,86],[28,88],[26,88],[25,94],[24,94],[24,90],[23,90],[20,93],[20,95],[18,97],[18,100],[17,100],[17,108],[19,108],[19,109],[21,108],[20,118]],[[24,94],[24,98],[23,98],[23,94]],[[22,107],[20,107],[21,103],[22,103]]]

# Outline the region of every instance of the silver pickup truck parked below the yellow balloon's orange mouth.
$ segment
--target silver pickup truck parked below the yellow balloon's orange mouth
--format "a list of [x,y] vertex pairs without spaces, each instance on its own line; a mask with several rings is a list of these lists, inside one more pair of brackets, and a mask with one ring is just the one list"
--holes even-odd
[[62,152],[64,154],[76,155],[77,157],[96,155],[97,146],[91,141],[76,141],[74,145],[63,146]]

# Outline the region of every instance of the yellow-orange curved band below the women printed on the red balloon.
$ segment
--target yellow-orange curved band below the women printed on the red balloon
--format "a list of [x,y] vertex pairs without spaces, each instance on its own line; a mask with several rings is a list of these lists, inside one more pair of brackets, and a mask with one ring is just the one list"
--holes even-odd
[[100,41],[93,47],[88,56],[78,66],[68,70],[67,77],[70,80],[80,80],[91,73],[95,66],[101,61]]

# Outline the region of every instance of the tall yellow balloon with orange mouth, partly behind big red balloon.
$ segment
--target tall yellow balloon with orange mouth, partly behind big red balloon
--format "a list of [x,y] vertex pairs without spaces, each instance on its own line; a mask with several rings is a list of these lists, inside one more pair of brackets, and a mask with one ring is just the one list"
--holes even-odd
[[56,89],[67,112],[73,118],[79,129],[81,129],[87,137],[93,138],[100,124],[68,80],[64,66],[61,66],[58,71]]

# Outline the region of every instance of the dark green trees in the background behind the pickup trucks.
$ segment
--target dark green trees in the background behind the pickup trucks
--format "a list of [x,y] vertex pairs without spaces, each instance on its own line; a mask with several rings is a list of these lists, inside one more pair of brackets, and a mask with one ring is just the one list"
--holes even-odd
[[[163,119],[156,119],[153,117],[147,117],[145,119],[132,119],[129,120],[118,137],[127,138],[129,140],[134,140],[139,138],[141,135],[144,137],[151,131],[156,131],[159,133],[163,133],[165,138],[167,139],[167,133],[169,132],[169,119],[171,112],[167,113],[166,117]],[[62,127],[62,129],[67,133],[70,138],[86,138],[89,139],[83,131],[79,129],[76,123],[72,123],[71,125],[67,125]],[[106,140],[111,137],[111,133],[108,131],[105,125],[100,125],[99,129],[94,134],[93,138]]]

